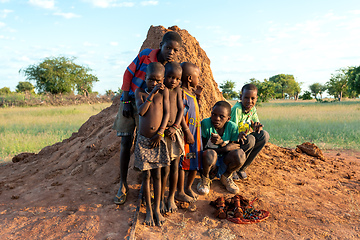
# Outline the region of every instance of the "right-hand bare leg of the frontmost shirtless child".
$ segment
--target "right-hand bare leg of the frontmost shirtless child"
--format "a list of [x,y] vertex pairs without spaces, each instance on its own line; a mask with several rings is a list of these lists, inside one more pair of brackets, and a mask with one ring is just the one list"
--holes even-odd
[[154,186],[154,217],[156,224],[158,226],[162,226],[162,224],[165,222],[165,218],[160,213],[161,168],[152,169],[151,177],[153,179]]

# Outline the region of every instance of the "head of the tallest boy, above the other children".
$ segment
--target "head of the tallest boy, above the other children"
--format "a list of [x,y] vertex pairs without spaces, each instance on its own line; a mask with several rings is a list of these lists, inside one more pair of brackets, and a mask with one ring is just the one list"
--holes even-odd
[[163,61],[175,61],[181,45],[182,40],[177,32],[171,31],[165,33],[160,43],[160,54]]

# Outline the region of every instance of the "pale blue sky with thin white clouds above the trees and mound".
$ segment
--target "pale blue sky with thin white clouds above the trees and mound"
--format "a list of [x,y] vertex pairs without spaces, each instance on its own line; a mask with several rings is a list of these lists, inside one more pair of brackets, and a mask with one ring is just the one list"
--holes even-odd
[[359,0],[0,0],[0,88],[15,91],[20,69],[65,56],[92,69],[93,91],[116,91],[151,25],[186,29],[215,81],[236,90],[282,73],[309,90],[360,65]]

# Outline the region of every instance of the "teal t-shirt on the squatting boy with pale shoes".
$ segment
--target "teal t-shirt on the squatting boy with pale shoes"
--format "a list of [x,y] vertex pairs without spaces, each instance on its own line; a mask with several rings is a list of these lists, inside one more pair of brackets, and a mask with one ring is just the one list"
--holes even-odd
[[[201,135],[206,140],[204,143],[204,148],[218,148],[218,145],[213,144],[210,141],[211,133],[217,134],[214,125],[211,123],[210,118],[205,118],[201,121]],[[221,139],[228,144],[230,141],[237,141],[239,137],[239,131],[234,122],[229,121],[225,123],[224,134],[221,136]]]

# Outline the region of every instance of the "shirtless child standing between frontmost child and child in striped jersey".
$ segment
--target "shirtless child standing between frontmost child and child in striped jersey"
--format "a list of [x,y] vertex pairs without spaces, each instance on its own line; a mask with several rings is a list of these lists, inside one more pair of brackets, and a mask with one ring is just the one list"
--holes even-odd
[[[170,117],[165,130],[165,141],[169,152],[171,165],[162,169],[161,186],[161,212],[176,212],[175,191],[178,180],[180,156],[184,154],[184,136],[180,123],[184,115],[182,92],[179,87],[182,68],[178,62],[170,62],[165,65],[164,84],[169,89]],[[167,207],[164,202],[165,188],[170,174],[169,196]]]

